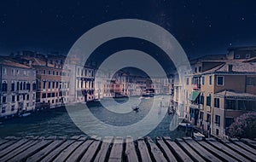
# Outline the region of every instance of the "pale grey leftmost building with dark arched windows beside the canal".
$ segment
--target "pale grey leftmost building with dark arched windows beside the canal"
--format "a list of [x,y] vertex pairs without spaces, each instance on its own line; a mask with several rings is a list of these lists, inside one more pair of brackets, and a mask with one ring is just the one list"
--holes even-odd
[[1,57],[0,68],[0,117],[33,111],[36,71],[7,57]]

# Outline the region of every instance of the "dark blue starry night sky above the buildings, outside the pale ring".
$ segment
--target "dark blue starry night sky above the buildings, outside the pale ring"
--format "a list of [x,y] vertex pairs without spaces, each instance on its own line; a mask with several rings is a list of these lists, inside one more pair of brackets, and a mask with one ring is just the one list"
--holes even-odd
[[256,45],[254,0],[3,0],[0,52],[8,55],[32,49],[66,55],[90,28],[125,18],[148,20],[164,27],[177,38],[189,57]]

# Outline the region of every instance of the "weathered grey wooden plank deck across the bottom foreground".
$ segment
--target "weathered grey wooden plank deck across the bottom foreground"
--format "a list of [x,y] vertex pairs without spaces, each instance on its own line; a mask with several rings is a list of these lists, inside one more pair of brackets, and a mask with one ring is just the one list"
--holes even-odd
[[0,139],[0,161],[255,161],[256,141],[214,138],[195,141],[131,136],[6,137]]

